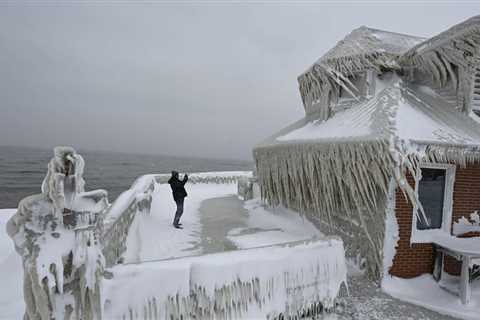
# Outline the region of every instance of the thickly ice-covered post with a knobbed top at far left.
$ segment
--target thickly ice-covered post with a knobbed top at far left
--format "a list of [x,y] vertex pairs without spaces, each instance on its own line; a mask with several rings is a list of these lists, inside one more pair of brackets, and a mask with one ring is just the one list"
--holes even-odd
[[57,147],[42,193],[20,201],[7,232],[22,257],[24,320],[101,319],[104,190],[85,192],[83,158]]

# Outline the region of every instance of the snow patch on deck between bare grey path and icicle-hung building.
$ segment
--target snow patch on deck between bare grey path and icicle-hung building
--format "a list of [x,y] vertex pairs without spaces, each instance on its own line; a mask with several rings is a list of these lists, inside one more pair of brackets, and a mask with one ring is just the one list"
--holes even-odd
[[228,239],[238,248],[252,248],[322,237],[320,231],[297,212],[279,207],[266,208],[260,199],[245,202],[246,228],[229,232]]

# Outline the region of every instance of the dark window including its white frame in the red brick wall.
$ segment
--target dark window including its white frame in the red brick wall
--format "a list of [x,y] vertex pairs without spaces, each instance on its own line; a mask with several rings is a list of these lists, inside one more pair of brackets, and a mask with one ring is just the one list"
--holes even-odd
[[452,224],[453,183],[455,165],[424,164],[415,191],[422,204],[425,218],[420,209],[413,209],[412,243],[431,242],[432,232],[450,234]]

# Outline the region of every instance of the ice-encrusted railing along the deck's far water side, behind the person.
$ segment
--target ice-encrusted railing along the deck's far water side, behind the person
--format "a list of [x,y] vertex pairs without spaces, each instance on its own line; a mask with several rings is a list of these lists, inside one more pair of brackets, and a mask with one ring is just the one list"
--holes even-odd
[[[193,173],[189,175],[188,183],[228,184],[250,176],[251,172],[248,171]],[[117,263],[125,252],[128,232],[135,214],[150,212],[155,185],[167,183],[168,179],[169,174],[141,176],[107,209],[101,241],[107,267]]]

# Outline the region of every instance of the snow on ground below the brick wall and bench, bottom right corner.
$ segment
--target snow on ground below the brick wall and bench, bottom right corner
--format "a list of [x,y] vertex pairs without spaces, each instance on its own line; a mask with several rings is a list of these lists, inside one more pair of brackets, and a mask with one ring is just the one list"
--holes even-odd
[[392,297],[442,314],[468,320],[480,319],[479,281],[472,283],[472,298],[467,306],[462,305],[459,297],[440,288],[430,274],[413,279],[385,277],[382,282],[382,289]]

